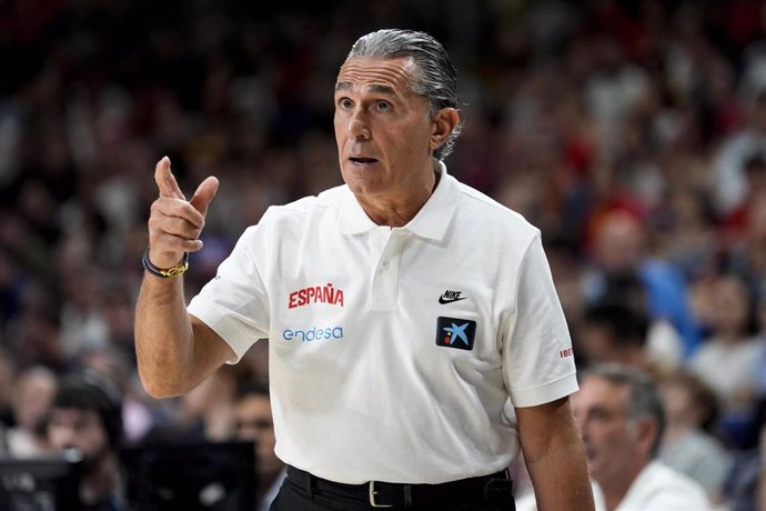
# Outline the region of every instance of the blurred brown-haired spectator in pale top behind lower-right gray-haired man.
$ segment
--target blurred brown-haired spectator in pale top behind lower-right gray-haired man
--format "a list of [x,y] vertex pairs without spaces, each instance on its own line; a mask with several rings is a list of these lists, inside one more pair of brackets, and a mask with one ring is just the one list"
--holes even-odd
[[724,500],[724,482],[730,470],[727,445],[714,434],[718,403],[697,377],[678,371],[661,382],[667,424],[658,459],[698,482],[713,504]]

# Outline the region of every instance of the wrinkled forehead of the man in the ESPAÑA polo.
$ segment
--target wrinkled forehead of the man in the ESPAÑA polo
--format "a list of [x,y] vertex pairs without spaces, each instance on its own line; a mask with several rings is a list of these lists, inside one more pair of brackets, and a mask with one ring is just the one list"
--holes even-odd
[[415,63],[409,57],[374,59],[352,57],[341,67],[335,92],[412,93]]

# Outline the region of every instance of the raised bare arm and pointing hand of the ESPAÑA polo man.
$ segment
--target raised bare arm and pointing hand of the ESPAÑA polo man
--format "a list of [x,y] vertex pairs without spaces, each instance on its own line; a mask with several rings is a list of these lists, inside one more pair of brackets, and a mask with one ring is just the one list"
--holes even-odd
[[[151,264],[173,268],[187,252],[202,248],[199,237],[218,179],[200,183],[187,200],[165,157],[157,163],[159,198],[149,218]],[[229,344],[187,312],[183,277],[162,278],[144,272],[135,307],[135,353],[141,381],[151,395],[167,398],[196,387],[233,357]]]

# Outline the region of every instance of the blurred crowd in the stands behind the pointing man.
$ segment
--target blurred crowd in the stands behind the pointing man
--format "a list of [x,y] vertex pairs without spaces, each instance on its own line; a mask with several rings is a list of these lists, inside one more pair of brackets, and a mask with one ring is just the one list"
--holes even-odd
[[694,419],[730,457],[706,475],[712,499],[752,509],[766,422],[760,0],[0,0],[13,449],[44,449],[47,398],[85,369],[122,392],[128,442],[233,434],[238,388],[266,379],[265,343],[183,398],[152,400],[138,381],[154,163],[169,156],[187,193],[221,181],[191,297],[265,208],[341,182],[335,74],[383,27],[426,30],[452,54],[465,128],[448,171],[542,230],[578,365],[666,384],[668,423]]

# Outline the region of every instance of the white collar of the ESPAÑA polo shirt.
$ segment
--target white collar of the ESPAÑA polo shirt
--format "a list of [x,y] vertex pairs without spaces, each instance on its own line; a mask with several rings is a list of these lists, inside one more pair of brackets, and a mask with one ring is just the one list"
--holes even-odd
[[[444,162],[434,163],[434,170],[440,173],[436,189],[433,191],[423,208],[415,214],[403,229],[406,229],[421,238],[441,240],[450,226],[452,216],[457,208],[460,190],[454,178],[447,174]],[[345,187],[345,193],[340,209],[340,229],[344,234],[360,234],[377,227],[364,209],[360,206],[354,194]]]

